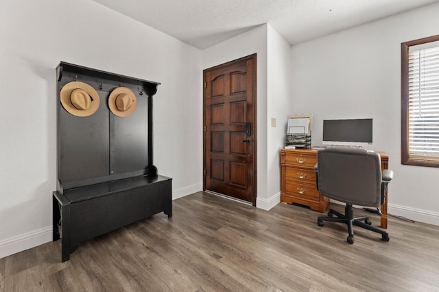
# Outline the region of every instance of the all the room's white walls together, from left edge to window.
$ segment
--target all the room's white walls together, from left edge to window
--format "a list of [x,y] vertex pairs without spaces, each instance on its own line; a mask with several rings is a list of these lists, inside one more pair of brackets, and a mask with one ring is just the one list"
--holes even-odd
[[323,118],[372,117],[374,148],[389,153],[395,171],[390,213],[439,225],[438,169],[400,163],[400,44],[437,34],[438,12],[439,4],[429,5],[298,44],[288,55],[270,25],[201,52],[93,1],[2,3],[0,258],[51,240],[60,61],[162,83],[154,164],[174,178],[179,198],[202,189],[202,69],[257,53],[257,207],[278,200],[288,114],[313,114],[315,145]]

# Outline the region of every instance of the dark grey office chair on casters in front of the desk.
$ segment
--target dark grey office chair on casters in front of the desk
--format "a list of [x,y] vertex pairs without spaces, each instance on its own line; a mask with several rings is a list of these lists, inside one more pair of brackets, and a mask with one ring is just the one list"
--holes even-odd
[[351,244],[354,243],[354,225],[381,233],[383,241],[390,240],[387,232],[371,226],[368,216],[353,217],[353,204],[379,208],[384,203],[385,190],[392,181],[393,172],[383,170],[381,173],[378,153],[357,148],[325,148],[317,152],[314,170],[322,195],[346,203],[344,214],[330,209],[328,217],[318,217],[318,226],[323,226],[324,221],[346,223],[347,241]]

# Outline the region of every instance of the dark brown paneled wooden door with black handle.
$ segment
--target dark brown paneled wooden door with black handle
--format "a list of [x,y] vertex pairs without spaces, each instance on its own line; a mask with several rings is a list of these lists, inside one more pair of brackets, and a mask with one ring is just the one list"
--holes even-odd
[[256,55],[204,70],[204,189],[256,205]]

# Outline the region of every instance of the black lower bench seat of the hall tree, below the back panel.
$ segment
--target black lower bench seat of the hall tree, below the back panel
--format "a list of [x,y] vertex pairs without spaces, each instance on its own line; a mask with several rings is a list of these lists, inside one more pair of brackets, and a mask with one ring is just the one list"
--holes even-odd
[[62,261],[79,243],[156,213],[172,216],[171,178],[134,176],[67,189],[54,197],[54,240],[62,239]]

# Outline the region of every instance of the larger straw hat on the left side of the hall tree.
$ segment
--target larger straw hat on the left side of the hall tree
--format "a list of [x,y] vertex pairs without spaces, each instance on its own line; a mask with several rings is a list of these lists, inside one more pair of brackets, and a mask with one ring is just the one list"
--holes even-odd
[[99,94],[84,82],[69,82],[61,89],[61,104],[73,116],[91,116],[99,107]]

